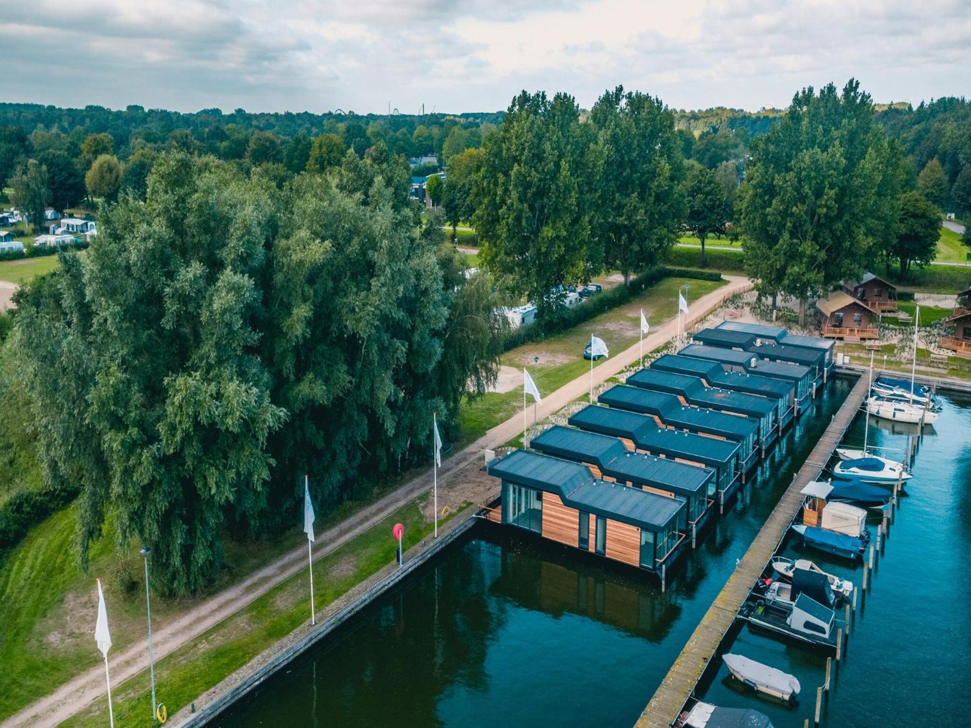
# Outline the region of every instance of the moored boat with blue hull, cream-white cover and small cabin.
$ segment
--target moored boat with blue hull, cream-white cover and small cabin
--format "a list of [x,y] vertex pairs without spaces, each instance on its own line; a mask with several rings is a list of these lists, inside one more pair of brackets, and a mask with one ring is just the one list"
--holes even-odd
[[833,486],[827,482],[810,482],[803,489],[806,501],[802,523],[792,530],[802,536],[807,546],[814,546],[836,556],[862,558],[870,542],[866,530],[866,511],[846,503],[828,503]]

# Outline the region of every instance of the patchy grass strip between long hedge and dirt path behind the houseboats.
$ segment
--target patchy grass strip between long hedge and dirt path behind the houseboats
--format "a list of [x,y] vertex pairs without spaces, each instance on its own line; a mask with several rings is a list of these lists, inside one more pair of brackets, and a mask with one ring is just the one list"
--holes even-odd
[[[591,333],[603,339],[612,352],[619,353],[637,343],[641,309],[644,309],[651,325],[657,327],[677,313],[678,288],[685,283],[688,284],[690,304],[726,282],[663,279],[606,314],[585,321],[569,331],[507,351],[502,355],[501,362],[518,369],[528,367],[540,393],[552,392],[589,372],[590,362],[584,358],[584,347],[589,343]],[[533,361],[536,356],[539,357],[538,362]],[[601,359],[594,366],[603,361]],[[489,392],[478,399],[466,400],[458,415],[459,436],[455,448],[479,439],[490,428],[517,414],[521,407],[522,390],[519,387],[511,392]],[[531,419],[529,421],[532,422]]]

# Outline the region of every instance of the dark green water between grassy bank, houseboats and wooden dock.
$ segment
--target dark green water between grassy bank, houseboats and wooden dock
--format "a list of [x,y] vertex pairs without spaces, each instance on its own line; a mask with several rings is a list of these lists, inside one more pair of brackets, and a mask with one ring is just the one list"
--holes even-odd
[[484,524],[216,724],[633,724],[852,384],[820,394],[666,594],[637,570]]

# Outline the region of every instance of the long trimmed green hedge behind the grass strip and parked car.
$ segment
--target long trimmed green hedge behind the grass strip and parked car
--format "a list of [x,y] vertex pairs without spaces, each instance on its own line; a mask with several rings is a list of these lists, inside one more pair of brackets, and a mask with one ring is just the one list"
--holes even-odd
[[570,309],[560,306],[556,314],[547,321],[536,321],[513,329],[506,335],[503,350],[508,351],[511,348],[537,341],[549,334],[556,334],[573,328],[600,314],[606,314],[611,309],[616,309],[618,306],[627,303],[647,286],[672,276],[697,281],[721,280],[721,274],[718,271],[696,271],[685,268],[669,268],[664,265],[657,266],[647,273],[632,278],[629,285],[618,285],[590,296],[586,299],[586,303],[581,306],[574,306]]

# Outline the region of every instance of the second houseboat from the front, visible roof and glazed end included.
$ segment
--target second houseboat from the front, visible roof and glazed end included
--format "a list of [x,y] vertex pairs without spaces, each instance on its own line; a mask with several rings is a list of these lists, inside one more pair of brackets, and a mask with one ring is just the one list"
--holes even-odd
[[697,544],[697,532],[708,521],[715,499],[715,471],[677,460],[631,452],[616,437],[554,425],[529,444],[546,455],[583,463],[595,478],[650,490],[684,501],[678,529],[690,534]]

